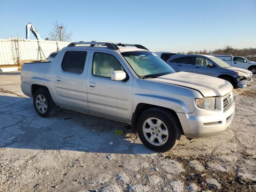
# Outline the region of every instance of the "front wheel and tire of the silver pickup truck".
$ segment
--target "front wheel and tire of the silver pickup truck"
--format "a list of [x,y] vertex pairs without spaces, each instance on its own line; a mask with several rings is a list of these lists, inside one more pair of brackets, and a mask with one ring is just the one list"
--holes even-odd
[[178,118],[163,108],[156,107],[143,112],[138,118],[137,129],[142,143],[156,152],[166,152],[174,148],[180,140],[181,125]]

